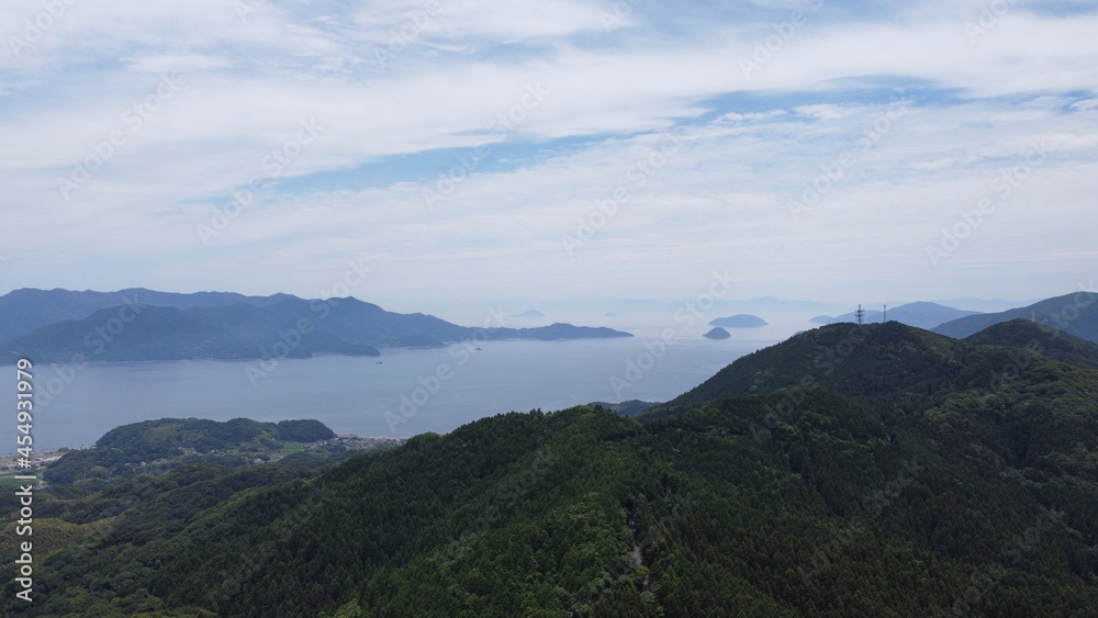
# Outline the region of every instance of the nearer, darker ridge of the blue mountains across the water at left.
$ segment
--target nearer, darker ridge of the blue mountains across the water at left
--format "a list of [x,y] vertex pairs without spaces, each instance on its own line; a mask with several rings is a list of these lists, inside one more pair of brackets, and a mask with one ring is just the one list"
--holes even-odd
[[379,356],[379,348],[438,347],[498,339],[629,337],[609,328],[553,324],[468,328],[424,314],[397,314],[347,299],[281,297],[257,306],[160,307],[125,304],[38,328],[4,345],[5,361],[40,362]]

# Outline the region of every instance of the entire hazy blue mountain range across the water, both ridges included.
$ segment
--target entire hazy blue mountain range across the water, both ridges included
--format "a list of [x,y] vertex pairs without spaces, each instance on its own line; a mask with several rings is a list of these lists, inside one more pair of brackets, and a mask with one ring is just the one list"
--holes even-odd
[[69,362],[379,356],[379,348],[456,341],[631,336],[559,323],[497,326],[506,321],[497,316],[484,328],[469,328],[430,315],[386,312],[354,297],[306,301],[287,294],[18,290],[0,297],[0,324],[9,325],[7,333],[13,336],[2,345],[8,362],[19,357]]

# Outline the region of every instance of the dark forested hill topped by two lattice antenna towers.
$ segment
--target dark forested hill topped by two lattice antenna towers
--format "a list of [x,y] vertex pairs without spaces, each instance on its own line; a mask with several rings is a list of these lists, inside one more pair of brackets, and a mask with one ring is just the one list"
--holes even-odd
[[[993,345],[994,344],[994,345]],[[1010,352],[1006,347],[1018,348]],[[690,392],[650,411],[684,412],[729,395],[826,385],[915,413],[955,390],[995,387],[1031,357],[1098,366],[1098,345],[1027,321],[999,324],[965,340],[887,324],[832,324],[737,359]]]

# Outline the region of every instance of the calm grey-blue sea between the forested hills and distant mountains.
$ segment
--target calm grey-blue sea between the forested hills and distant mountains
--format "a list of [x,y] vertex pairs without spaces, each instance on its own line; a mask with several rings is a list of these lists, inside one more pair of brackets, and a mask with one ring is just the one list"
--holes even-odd
[[[546,412],[624,400],[668,401],[737,358],[776,341],[680,339],[491,341],[380,358],[94,363],[36,367],[34,446],[91,445],[139,420],[316,418],[336,432],[408,437],[447,432],[509,411]],[[662,346],[662,347],[661,347]],[[0,392],[14,411],[15,370]],[[14,452],[15,415],[0,425],[0,452]]]

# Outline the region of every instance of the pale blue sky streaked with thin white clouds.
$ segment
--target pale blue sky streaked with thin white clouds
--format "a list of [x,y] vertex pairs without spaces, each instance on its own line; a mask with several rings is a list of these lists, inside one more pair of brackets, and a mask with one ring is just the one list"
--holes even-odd
[[1094,289],[1096,32],[1090,1],[8,1],[0,293]]

